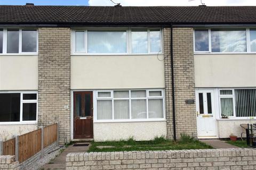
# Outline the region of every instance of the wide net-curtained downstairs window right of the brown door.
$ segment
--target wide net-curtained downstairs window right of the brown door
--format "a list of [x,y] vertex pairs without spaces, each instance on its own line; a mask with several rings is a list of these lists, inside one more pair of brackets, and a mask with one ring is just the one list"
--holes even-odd
[[164,118],[163,90],[97,91],[97,120]]

